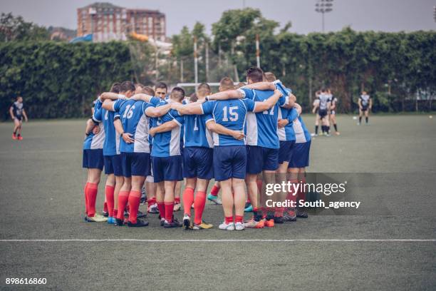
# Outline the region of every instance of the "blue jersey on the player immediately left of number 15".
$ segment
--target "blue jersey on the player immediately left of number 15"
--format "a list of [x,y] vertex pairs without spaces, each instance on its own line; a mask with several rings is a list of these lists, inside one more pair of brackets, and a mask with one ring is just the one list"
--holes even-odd
[[214,141],[212,134],[206,127],[206,123],[213,121],[212,114],[206,115],[186,115],[185,119],[185,135],[183,144],[185,147],[199,146],[202,148],[213,148]]

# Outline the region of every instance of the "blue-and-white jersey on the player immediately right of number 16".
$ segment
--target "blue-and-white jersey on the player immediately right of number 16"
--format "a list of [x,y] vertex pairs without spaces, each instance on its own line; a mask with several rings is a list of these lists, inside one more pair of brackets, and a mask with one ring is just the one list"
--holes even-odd
[[[160,106],[166,102],[161,102]],[[182,131],[183,117],[175,110],[170,110],[165,116],[160,118],[152,118],[152,126],[160,126],[165,122],[175,121],[177,126],[171,131],[165,133],[157,133],[153,138],[153,147],[151,155],[153,157],[170,157],[172,155],[180,155],[180,133]]]

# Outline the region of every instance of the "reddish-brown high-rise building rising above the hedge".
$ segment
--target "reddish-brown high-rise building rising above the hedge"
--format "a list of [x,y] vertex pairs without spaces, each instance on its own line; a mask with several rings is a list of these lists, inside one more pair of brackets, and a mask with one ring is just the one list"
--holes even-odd
[[125,40],[135,32],[165,41],[165,14],[157,10],[127,9],[110,3],[94,3],[77,9],[77,36],[93,34],[93,41]]

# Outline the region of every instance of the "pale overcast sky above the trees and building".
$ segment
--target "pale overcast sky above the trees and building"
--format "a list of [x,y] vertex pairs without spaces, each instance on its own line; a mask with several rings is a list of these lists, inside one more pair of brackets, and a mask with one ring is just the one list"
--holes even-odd
[[[0,0],[1,12],[24,16],[43,26],[76,29],[79,7],[92,0]],[[192,28],[196,21],[206,25],[218,21],[223,11],[246,6],[258,8],[268,19],[281,25],[292,21],[291,31],[307,34],[321,31],[321,14],[314,11],[316,0],[113,0],[127,8],[158,9],[167,16],[167,36],[177,34],[182,26]],[[435,0],[334,0],[333,12],[326,14],[326,31],[351,26],[358,31],[435,30]]]

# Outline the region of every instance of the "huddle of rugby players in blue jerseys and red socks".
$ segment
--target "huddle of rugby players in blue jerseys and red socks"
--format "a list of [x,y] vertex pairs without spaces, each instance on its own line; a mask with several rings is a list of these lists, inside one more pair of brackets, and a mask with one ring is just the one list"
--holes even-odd
[[[251,67],[246,81],[237,88],[231,78],[222,78],[214,94],[201,83],[191,98],[180,87],[167,96],[165,84],[153,90],[130,81],[114,83],[110,92],[100,94],[83,143],[85,220],[147,226],[139,211],[144,185],[148,211],[159,213],[164,228],[212,228],[203,218],[207,199],[222,203],[221,230],[271,228],[307,218],[303,208],[266,207],[262,195],[265,184],[305,183],[311,135],[301,106],[273,73]],[[95,211],[103,168],[107,218]],[[207,195],[212,179],[215,185]],[[179,222],[174,210],[182,181],[184,215]],[[275,198],[295,202],[305,195],[301,188]],[[253,215],[244,221],[247,203]]]

